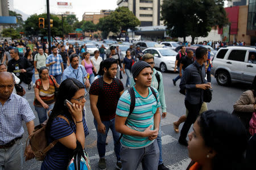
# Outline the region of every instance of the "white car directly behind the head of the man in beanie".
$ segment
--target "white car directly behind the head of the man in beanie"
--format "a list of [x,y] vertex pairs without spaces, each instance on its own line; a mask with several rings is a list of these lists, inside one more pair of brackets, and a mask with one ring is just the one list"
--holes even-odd
[[154,56],[155,67],[162,72],[174,71],[177,52],[169,48],[147,48],[142,51],[144,54],[150,53]]

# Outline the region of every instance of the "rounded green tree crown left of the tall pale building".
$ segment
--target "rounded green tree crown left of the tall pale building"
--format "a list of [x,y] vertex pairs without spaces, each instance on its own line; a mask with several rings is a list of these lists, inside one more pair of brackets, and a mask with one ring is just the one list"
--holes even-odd
[[108,36],[109,32],[119,33],[122,30],[134,29],[141,22],[138,18],[126,7],[118,7],[110,15],[100,19],[97,24],[98,30],[102,31],[102,36]]

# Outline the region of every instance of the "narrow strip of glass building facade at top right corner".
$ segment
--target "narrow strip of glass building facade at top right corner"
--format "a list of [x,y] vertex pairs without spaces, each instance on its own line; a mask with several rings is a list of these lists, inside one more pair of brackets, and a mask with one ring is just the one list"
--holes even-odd
[[256,0],[249,0],[247,30],[256,30]]

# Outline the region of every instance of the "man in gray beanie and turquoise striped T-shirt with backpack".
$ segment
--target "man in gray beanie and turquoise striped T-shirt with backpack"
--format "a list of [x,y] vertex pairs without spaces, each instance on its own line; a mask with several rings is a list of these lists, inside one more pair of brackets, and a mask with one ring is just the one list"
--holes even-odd
[[143,160],[143,169],[157,170],[159,147],[155,139],[160,123],[159,94],[151,87],[152,69],[147,62],[134,63],[131,72],[136,84],[123,92],[115,115],[115,130],[123,134],[120,140],[122,168],[137,169]]

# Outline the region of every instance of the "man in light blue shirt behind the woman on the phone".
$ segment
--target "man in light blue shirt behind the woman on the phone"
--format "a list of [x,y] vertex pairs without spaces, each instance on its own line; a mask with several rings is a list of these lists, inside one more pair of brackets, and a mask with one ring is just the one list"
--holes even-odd
[[87,78],[87,73],[84,66],[79,65],[79,56],[77,54],[72,54],[69,61],[71,64],[64,70],[62,81],[67,78],[74,78],[79,80],[86,88],[90,87],[89,79]]

